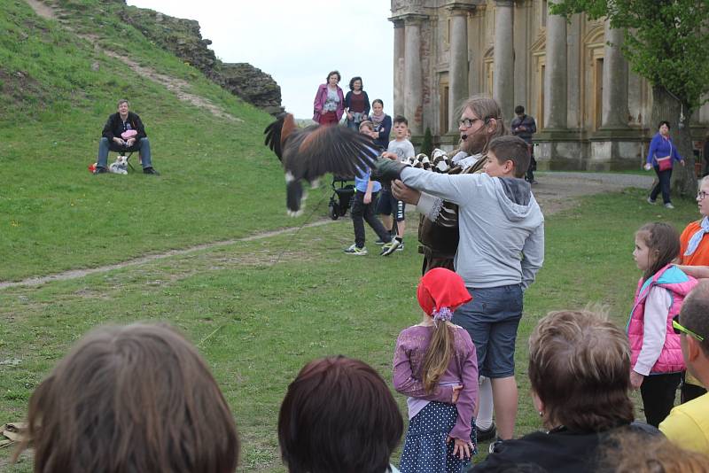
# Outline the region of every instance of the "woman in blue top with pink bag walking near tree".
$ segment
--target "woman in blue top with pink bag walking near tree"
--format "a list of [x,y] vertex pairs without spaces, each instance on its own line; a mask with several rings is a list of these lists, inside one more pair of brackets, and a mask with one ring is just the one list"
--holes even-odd
[[655,205],[660,190],[662,191],[662,201],[669,209],[674,208],[670,201],[670,179],[672,178],[672,167],[674,161],[684,166],[684,158],[677,152],[677,148],[672,144],[670,138],[670,123],[669,121],[660,121],[658,125],[658,133],[652,136],[650,142],[650,150],[648,151],[648,159],[645,163],[645,170],[650,171],[655,168],[655,173],[658,174],[658,183],[652,188],[648,197],[648,204]]

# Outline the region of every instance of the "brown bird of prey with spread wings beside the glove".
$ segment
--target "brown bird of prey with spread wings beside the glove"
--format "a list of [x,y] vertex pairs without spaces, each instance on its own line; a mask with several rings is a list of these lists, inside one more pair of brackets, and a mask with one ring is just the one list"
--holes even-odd
[[285,205],[293,217],[302,213],[301,181],[314,182],[327,173],[353,176],[372,167],[378,156],[370,136],[338,126],[298,128],[291,113],[279,115],[263,134],[264,143],[283,164]]

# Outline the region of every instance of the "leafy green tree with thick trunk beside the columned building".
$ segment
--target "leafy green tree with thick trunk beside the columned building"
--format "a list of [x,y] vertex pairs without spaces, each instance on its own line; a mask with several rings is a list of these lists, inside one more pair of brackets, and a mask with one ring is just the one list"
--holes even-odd
[[[673,175],[673,188],[697,192],[690,117],[709,93],[709,0],[554,0],[549,12],[569,19],[586,13],[607,18],[625,34],[620,46],[628,65],[652,86],[650,126],[672,126],[673,142],[687,166]],[[677,168],[675,167],[675,170]]]

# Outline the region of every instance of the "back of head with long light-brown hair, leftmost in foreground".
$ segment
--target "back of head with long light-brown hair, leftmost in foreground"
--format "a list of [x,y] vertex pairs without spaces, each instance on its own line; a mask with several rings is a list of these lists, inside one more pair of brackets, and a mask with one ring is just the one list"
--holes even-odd
[[231,473],[234,419],[194,346],[167,325],[94,330],[29,399],[35,471]]

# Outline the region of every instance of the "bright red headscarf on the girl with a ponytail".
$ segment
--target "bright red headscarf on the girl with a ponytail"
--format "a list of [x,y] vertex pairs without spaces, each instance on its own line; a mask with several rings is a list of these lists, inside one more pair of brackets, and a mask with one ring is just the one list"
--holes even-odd
[[[470,302],[472,297],[465,289],[462,277],[450,269],[433,268],[418,283],[417,299],[424,312],[433,317],[441,312],[452,314],[456,308]],[[444,318],[450,320],[449,317]]]

